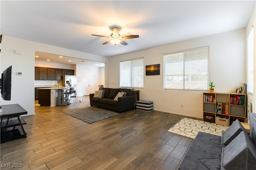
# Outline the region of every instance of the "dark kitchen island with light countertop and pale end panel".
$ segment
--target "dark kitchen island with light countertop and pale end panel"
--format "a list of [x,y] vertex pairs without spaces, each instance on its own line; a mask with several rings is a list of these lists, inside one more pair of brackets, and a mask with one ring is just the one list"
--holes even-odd
[[[60,94],[58,91],[66,92],[68,89],[69,87],[38,88],[38,104],[40,106],[58,106],[58,94]],[[67,96],[64,96],[64,98],[67,98]]]

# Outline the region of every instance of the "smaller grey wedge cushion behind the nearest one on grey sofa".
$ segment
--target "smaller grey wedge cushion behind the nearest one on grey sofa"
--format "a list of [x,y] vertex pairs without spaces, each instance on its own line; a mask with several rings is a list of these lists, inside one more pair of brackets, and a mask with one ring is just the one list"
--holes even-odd
[[232,125],[222,133],[222,139],[224,145],[228,145],[241,131],[246,132],[243,125],[238,119],[232,123]]

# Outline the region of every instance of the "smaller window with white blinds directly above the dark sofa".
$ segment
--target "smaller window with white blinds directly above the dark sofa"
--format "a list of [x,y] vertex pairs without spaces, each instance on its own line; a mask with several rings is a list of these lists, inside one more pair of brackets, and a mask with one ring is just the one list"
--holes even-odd
[[120,87],[144,87],[143,57],[120,61]]

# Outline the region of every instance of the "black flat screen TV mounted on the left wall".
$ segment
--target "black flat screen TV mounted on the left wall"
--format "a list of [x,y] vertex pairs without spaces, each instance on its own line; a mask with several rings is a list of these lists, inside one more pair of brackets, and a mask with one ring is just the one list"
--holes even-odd
[[4,100],[11,100],[12,66],[3,71],[0,80],[1,96]]

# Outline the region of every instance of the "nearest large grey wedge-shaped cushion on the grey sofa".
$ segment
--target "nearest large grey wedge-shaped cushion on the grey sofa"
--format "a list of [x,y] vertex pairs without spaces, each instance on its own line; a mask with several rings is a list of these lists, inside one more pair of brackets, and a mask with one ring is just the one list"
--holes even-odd
[[222,152],[223,166],[228,170],[253,170],[256,167],[256,147],[247,132],[241,131]]

